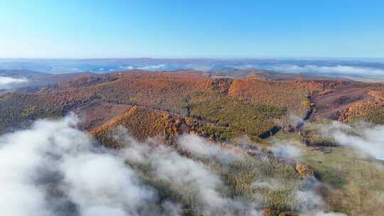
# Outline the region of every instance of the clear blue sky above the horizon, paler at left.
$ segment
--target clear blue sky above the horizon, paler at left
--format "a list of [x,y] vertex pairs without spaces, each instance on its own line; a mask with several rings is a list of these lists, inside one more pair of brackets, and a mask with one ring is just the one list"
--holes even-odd
[[0,1],[0,58],[384,58],[384,1]]

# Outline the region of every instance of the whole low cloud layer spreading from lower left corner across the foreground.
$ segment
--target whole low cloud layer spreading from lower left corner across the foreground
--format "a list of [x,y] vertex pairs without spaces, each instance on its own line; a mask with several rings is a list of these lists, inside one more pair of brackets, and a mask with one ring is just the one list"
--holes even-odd
[[[36,121],[30,129],[0,136],[4,215],[181,215],[181,206],[174,200],[188,200],[195,212],[210,215],[262,215],[261,200],[228,196],[220,173],[204,162],[208,159],[226,167],[242,160],[241,153],[192,135],[181,136],[174,148],[151,140],[139,143],[122,126],[112,136],[127,146],[115,151],[75,129],[76,124],[78,119],[70,115]],[[291,156],[282,153],[285,150],[276,153]],[[293,193],[301,210],[316,210],[324,204],[314,193],[316,181],[292,183],[309,184]],[[263,178],[252,183],[260,190],[285,190],[284,184],[283,179]]]

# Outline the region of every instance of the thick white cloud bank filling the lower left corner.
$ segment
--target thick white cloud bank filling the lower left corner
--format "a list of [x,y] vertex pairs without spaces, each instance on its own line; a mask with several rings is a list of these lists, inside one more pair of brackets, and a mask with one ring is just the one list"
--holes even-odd
[[139,215],[157,201],[124,159],[95,148],[90,136],[71,127],[76,123],[73,116],[37,121],[0,137],[4,215]]

